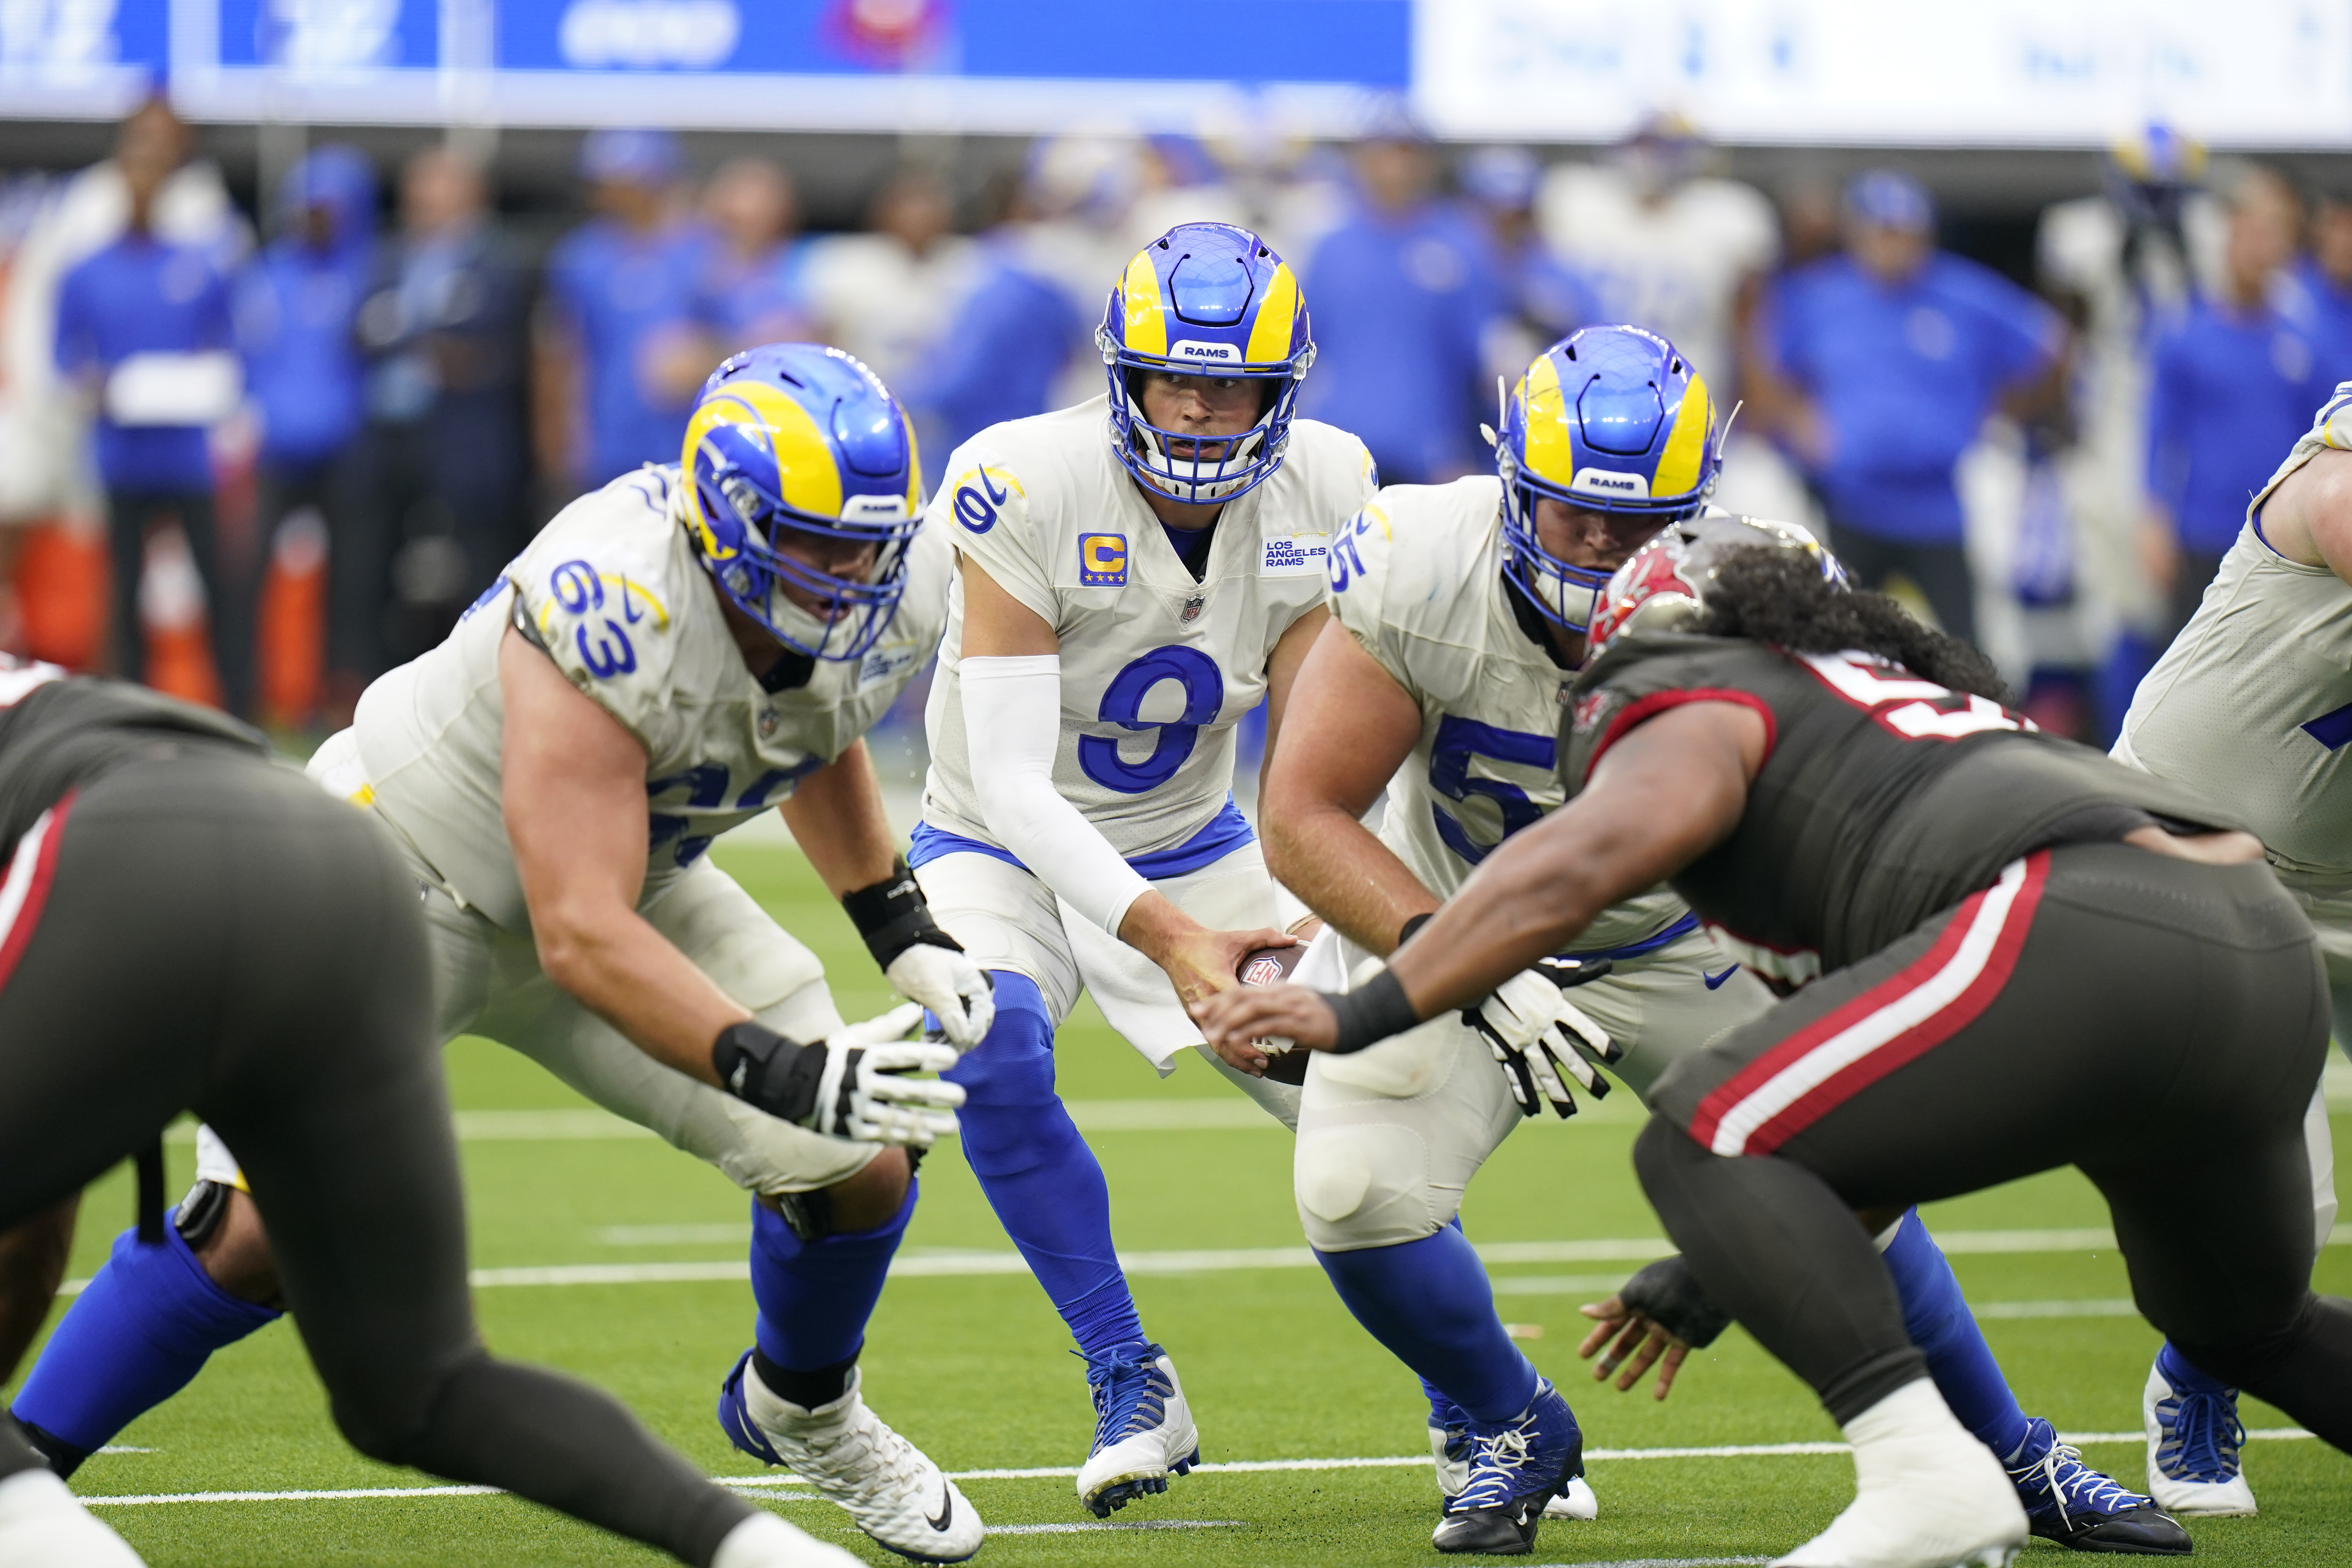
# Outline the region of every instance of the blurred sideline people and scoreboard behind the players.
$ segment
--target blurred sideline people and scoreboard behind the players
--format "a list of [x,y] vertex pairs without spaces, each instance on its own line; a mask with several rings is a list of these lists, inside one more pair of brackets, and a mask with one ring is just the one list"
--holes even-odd
[[2352,378],[2347,150],[2352,0],[12,0],[0,646],[322,736],[724,353],[861,355],[936,482],[1225,219],[1383,480],[1653,327],[1724,505],[2105,741]]

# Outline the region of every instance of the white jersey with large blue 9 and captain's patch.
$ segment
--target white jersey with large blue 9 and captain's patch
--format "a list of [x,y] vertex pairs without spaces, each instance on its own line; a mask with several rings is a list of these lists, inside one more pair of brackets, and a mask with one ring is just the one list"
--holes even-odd
[[[1110,449],[1108,397],[1094,397],[964,442],[931,527],[1054,628],[1054,788],[1131,858],[1176,849],[1225,806],[1232,729],[1265,698],[1275,642],[1322,604],[1331,531],[1369,498],[1364,442],[1294,421],[1282,468],[1225,503],[1195,583]],[[971,788],[962,642],[957,581],[927,712],[922,820],[995,844]]]

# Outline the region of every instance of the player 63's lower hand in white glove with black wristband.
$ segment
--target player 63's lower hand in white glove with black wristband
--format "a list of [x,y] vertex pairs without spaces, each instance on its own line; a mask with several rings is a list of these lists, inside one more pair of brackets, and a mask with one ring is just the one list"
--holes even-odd
[[953,1046],[908,1039],[920,1023],[913,1001],[816,1044],[739,1023],[710,1046],[710,1067],[727,1093],[783,1121],[830,1138],[927,1150],[955,1135],[964,1086],[908,1077],[955,1065]]

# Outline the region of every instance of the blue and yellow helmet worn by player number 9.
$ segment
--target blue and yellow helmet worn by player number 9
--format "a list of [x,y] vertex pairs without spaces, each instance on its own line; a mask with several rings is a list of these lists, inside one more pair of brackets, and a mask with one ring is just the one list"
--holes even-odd
[[[1298,275],[1258,235],[1178,223],[1145,244],[1110,289],[1094,346],[1110,381],[1110,444],[1145,484],[1178,501],[1230,501],[1282,465],[1315,341]],[[1136,376],[1155,369],[1272,388],[1256,425],[1200,442],[1143,418]],[[1192,456],[1178,456],[1176,442]]]

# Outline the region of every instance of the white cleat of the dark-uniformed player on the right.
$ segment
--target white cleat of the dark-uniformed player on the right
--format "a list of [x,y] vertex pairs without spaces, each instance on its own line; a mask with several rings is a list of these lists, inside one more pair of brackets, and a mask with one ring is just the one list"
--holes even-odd
[[2025,1544],[2009,1472],[1926,1378],[1846,1422],[1853,1502],[1773,1568],[2006,1568]]

